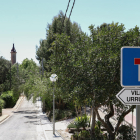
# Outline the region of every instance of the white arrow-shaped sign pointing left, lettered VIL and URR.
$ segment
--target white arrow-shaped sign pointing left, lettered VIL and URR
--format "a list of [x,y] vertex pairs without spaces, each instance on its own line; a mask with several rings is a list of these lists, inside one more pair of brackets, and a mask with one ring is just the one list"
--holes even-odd
[[123,88],[116,97],[126,105],[140,105],[140,88]]

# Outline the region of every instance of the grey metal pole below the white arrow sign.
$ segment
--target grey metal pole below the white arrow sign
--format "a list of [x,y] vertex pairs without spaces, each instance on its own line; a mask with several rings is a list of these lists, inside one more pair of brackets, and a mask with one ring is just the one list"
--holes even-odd
[[136,140],[140,140],[140,121],[139,121],[139,116],[140,116],[140,105],[136,106]]

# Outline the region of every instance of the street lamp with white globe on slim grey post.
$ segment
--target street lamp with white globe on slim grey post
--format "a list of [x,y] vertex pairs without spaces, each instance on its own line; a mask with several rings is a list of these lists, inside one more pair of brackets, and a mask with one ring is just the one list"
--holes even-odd
[[[54,83],[58,79],[56,74],[52,74],[50,80]],[[55,95],[53,90],[53,134],[55,135]]]

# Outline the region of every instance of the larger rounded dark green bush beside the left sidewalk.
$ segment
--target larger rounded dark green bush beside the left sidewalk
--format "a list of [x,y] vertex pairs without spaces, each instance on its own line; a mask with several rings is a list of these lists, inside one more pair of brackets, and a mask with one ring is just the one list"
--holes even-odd
[[5,101],[5,108],[12,108],[16,104],[19,95],[13,95],[12,91],[3,92],[1,94],[2,99]]

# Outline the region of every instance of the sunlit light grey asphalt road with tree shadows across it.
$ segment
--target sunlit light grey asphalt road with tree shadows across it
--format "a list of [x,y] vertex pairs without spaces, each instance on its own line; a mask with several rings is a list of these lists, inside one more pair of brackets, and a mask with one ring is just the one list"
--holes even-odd
[[19,109],[0,124],[0,140],[46,140],[37,104],[24,98]]

